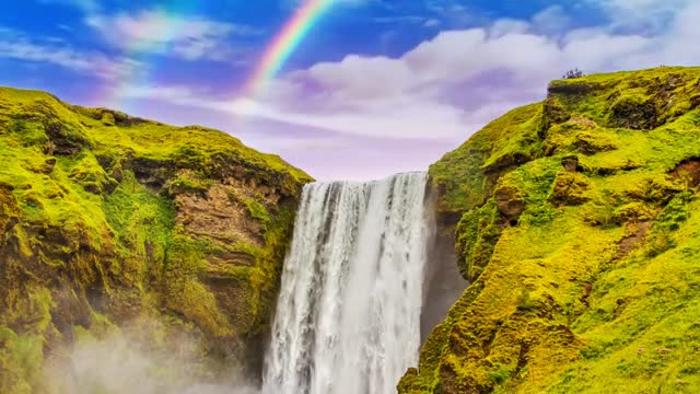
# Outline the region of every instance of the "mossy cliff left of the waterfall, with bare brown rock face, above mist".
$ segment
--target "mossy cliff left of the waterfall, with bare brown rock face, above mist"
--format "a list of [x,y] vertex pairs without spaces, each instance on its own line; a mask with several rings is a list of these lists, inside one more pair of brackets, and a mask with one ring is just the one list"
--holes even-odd
[[0,392],[50,389],[45,362],[127,325],[257,368],[306,174],[220,131],[4,88],[0,163]]

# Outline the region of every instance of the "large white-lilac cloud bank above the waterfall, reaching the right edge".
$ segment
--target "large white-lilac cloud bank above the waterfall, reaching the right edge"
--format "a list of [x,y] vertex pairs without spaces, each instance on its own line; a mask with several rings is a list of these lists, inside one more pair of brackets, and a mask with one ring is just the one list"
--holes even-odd
[[[555,16],[560,12],[547,9],[529,21],[501,20],[479,28],[445,31],[398,57],[350,55],[320,62],[281,76],[264,96],[215,97],[183,86],[125,92],[231,114],[234,119],[253,119],[252,124],[277,121],[345,136],[328,137],[324,144],[337,139],[342,147],[348,136],[354,136],[359,141],[394,140],[401,149],[420,152],[415,148],[425,141],[434,147],[456,146],[505,111],[541,100],[547,83],[574,67],[592,73],[691,65],[700,59],[700,46],[689,45],[700,40],[700,4],[677,9],[666,28],[654,35],[628,34],[609,24],[571,30],[568,23],[557,23]],[[284,154],[320,154],[310,152],[306,142],[294,148],[298,153],[288,148]],[[390,147],[385,142],[382,149]],[[338,161],[352,162],[338,154]],[[424,158],[416,154],[416,159],[405,159],[406,170],[416,169],[419,162],[422,165]],[[372,159],[365,166],[373,165],[383,167],[382,159]],[[400,170],[400,165],[390,169]],[[332,177],[329,172],[324,174]]]

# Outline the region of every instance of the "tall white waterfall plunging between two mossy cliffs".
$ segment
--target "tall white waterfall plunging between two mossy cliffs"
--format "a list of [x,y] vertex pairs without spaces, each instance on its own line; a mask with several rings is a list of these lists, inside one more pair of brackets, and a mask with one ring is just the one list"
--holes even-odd
[[387,394],[420,346],[425,173],[302,194],[265,394]]

